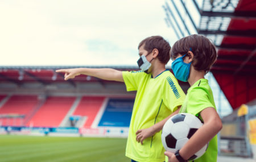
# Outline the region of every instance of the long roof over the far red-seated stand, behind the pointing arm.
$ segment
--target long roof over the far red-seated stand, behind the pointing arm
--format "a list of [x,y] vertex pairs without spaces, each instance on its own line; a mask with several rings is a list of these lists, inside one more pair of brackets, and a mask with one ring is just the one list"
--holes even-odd
[[[74,79],[64,80],[63,73],[56,73],[57,69],[69,68],[112,68],[121,71],[139,70],[137,66],[0,66],[0,83],[13,83],[22,86],[23,83],[37,82],[45,86],[55,82],[68,82],[73,87],[77,87],[77,82],[98,82],[102,84],[114,81],[102,80],[87,75],[79,75]],[[168,66],[167,66],[167,69]],[[170,70],[170,69],[169,69]],[[184,92],[187,92],[188,83],[179,82]]]

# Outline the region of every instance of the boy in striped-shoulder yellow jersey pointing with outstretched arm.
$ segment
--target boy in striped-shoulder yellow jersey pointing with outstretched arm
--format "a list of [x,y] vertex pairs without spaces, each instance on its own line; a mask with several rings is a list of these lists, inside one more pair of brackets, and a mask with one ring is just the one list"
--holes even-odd
[[132,161],[163,162],[164,148],[159,131],[168,118],[178,113],[185,94],[174,75],[166,70],[171,47],[163,37],[148,37],[141,41],[138,49],[141,58],[137,63],[141,71],[83,68],[56,72],[65,73],[65,80],[84,74],[124,82],[127,91],[137,91],[126,156]]

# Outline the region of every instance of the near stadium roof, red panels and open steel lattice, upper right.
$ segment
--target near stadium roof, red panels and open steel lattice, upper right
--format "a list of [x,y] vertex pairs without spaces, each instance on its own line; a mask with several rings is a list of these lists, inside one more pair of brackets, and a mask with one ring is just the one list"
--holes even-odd
[[199,7],[191,0],[200,15],[199,25],[195,23],[195,10],[189,10],[193,6],[180,1],[186,14],[182,16],[177,1],[167,2],[163,6],[166,22],[177,37],[190,35],[188,26],[192,24],[197,33],[216,45],[218,58],[211,71],[232,108],[256,99],[256,1],[204,0]]

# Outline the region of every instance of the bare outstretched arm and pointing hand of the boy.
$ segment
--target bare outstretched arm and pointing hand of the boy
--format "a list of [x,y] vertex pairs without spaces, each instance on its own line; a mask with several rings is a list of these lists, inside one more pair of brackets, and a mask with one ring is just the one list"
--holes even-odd
[[92,69],[92,68],[76,68],[76,69],[60,69],[56,70],[57,73],[65,73],[65,80],[75,78],[77,75],[90,75],[96,78],[104,80],[114,80],[118,82],[124,82],[122,71],[102,68],[102,69]]

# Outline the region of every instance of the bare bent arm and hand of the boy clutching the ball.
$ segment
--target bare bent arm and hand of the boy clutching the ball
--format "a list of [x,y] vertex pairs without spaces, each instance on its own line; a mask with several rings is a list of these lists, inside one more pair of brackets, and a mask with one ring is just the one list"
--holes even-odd
[[[207,144],[222,128],[222,122],[214,108],[206,108],[201,111],[204,125],[188,140],[180,149],[179,154],[187,160]],[[165,152],[169,157],[168,161],[177,161],[176,156],[171,152]]]

